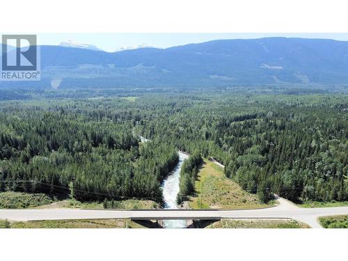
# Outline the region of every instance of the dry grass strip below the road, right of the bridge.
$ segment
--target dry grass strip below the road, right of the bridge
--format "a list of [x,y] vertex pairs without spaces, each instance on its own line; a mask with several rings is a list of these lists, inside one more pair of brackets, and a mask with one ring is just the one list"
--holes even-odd
[[293,219],[223,219],[207,228],[310,228]]

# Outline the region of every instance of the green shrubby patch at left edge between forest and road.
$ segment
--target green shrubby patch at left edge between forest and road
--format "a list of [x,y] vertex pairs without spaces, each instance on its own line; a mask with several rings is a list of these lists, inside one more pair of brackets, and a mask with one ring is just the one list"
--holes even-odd
[[42,193],[31,194],[13,191],[0,193],[0,208],[21,209],[47,205],[52,202],[51,198]]

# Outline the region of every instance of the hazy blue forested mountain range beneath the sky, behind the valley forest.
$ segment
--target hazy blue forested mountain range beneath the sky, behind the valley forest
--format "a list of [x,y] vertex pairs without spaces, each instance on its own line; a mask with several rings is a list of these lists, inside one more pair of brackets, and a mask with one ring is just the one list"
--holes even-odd
[[118,88],[348,84],[348,42],[306,38],[213,40],[104,52],[40,46],[40,82],[0,86]]

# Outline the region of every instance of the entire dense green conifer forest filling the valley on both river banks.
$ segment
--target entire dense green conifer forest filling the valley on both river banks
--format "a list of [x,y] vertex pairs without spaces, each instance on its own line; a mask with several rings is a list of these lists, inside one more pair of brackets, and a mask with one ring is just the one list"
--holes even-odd
[[348,200],[345,94],[134,96],[0,102],[0,191],[161,201],[179,149],[193,154],[179,200],[193,191],[200,155],[220,161],[227,177],[264,202],[273,193],[295,202]]

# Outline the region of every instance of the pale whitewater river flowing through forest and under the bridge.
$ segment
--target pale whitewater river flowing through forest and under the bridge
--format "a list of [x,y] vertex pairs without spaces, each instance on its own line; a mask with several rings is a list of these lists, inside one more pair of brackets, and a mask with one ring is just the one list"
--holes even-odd
[[[140,136],[141,142],[148,142],[149,139]],[[182,153],[177,152],[179,154],[179,162],[171,171],[168,173],[168,176],[164,179],[161,184],[161,188],[163,190],[163,198],[164,198],[164,209],[178,209],[177,206],[177,194],[179,193],[179,183],[180,183],[180,171],[184,160],[189,156]],[[163,221],[164,228],[187,228],[186,220],[164,220]]]

